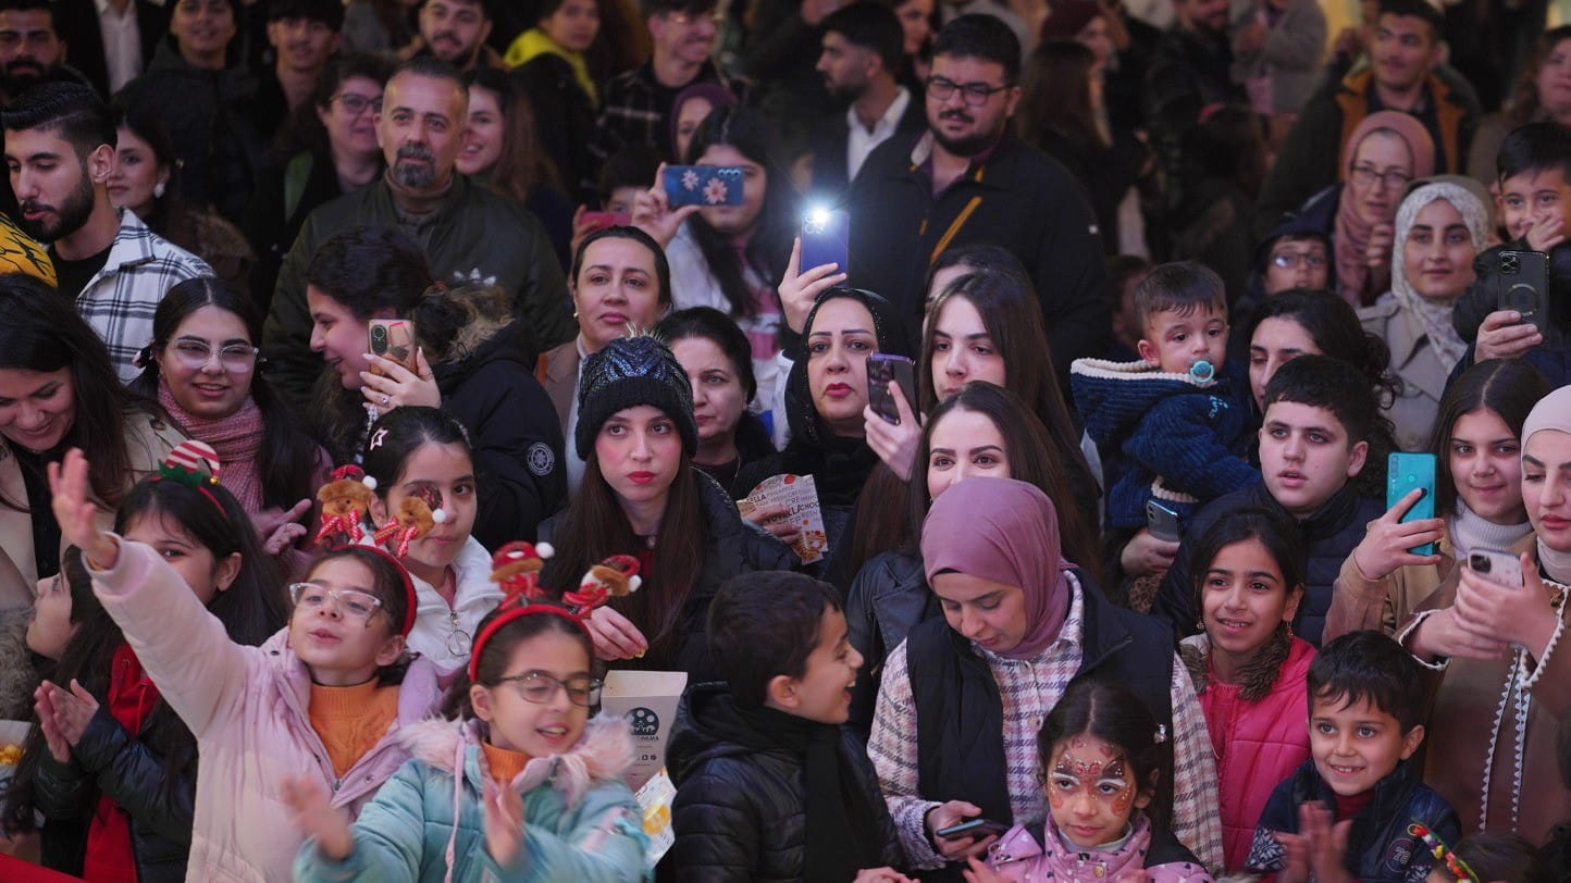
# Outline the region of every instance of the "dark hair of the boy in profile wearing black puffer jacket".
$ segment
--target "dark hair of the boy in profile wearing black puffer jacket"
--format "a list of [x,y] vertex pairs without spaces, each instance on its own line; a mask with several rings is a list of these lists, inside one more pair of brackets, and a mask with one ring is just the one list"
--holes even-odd
[[757,709],[770,680],[807,674],[826,610],[840,610],[840,592],[806,573],[767,570],[726,580],[709,606],[709,655],[726,672],[737,705]]

